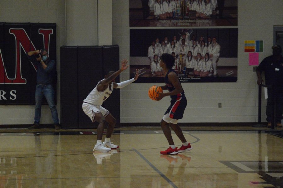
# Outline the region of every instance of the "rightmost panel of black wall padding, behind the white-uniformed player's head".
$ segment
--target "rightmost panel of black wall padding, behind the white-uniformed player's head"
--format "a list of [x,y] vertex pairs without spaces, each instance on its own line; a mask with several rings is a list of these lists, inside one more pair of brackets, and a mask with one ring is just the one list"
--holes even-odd
[[[119,46],[103,46],[103,70],[119,70]],[[116,77],[115,82],[119,83],[119,76]],[[106,108],[117,123],[115,128],[120,127],[120,89],[114,89],[110,97],[103,102],[103,107]]]

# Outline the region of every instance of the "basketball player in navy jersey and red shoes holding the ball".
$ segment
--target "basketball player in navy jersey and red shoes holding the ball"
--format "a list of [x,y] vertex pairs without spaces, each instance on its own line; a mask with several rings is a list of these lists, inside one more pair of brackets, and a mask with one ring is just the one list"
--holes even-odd
[[[161,151],[163,155],[174,155],[178,152],[190,151],[192,149],[191,144],[186,141],[181,128],[177,125],[178,119],[183,118],[185,108],[187,106],[187,99],[185,97],[184,90],[181,86],[178,75],[172,69],[175,59],[173,55],[163,54],[160,57],[160,67],[164,70],[165,86],[161,86],[162,90],[168,89],[167,93],[159,93],[157,101],[161,100],[165,96],[171,97],[171,105],[165,112],[160,125],[165,137],[169,143],[169,148],[165,151]],[[178,138],[182,142],[182,146],[178,149],[173,141],[171,130],[169,126],[174,130]]]

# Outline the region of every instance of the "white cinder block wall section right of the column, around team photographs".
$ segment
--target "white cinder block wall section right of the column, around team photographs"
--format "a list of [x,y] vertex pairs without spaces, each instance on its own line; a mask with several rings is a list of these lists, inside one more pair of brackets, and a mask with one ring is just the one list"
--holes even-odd
[[[188,105],[181,123],[186,122],[257,122],[257,76],[248,66],[244,40],[264,40],[264,53],[259,60],[271,55],[273,26],[282,25],[282,0],[238,0],[238,81],[236,83],[183,83]],[[128,0],[113,1],[113,44],[120,46],[120,59],[130,57],[130,28]],[[199,27],[198,27],[199,28]],[[216,27],[229,28],[229,27]],[[144,29],[144,28],[140,28]],[[150,28],[155,29],[155,28]],[[121,80],[129,79],[129,71]],[[131,84],[121,89],[121,122],[160,122],[169,105],[169,97],[159,102],[148,98],[148,88],[161,83]],[[218,108],[218,103],[222,108]],[[262,121],[265,121],[266,101],[262,102]]]

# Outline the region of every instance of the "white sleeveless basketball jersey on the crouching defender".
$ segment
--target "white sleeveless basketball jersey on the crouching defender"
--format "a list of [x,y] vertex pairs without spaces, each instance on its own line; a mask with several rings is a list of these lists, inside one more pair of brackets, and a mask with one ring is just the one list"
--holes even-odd
[[[99,81],[99,82],[101,82],[101,81]],[[98,84],[99,84],[99,82],[98,82]],[[110,90],[109,84],[108,84],[108,87],[104,91],[98,91],[97,85],[92,90],[92,92],[90,92],[88,94],[88,96],[86,97],[84,102],[90,103],[90,104],[95,105],[95,106],[100,106],[100,105],[102,105],[103,101],[105,101],[113,91],[113,82],[111,83],[111,90]]]

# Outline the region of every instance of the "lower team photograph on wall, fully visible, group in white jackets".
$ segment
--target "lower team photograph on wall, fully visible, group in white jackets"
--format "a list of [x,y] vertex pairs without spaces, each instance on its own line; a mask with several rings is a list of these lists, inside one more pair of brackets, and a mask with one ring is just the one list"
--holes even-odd
[[139,83],[164,81],[162,54],[175,58],[181,82],[236,82],[238,29],[130,29],[130,77]]

